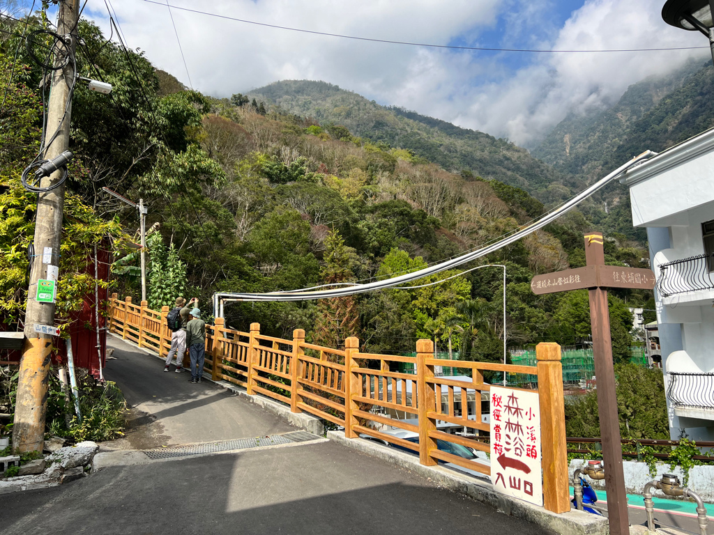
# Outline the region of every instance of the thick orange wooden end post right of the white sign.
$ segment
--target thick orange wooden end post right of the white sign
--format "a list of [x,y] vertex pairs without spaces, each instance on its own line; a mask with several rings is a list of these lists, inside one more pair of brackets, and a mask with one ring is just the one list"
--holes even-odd
[[535,346],[535,358],[538,360],[540,444],[543,449],[543,507],[554,513],[564,513],[570,511],[570,489],[560,346],[540,342]]

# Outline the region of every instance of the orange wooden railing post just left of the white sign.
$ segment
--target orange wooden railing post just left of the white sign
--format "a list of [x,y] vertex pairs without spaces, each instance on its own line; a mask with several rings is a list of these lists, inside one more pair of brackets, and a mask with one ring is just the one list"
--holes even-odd
[[[417,340],[416,342],[416,373],[417,373],[417,399],[416,405],[419,414],[419,462],[433,467],[436,459],[431,457],[431,452],[437,449],[436,440],[429,436],[436,431],[436,418],[429,418],[428,412],[436,410],[436,397],[434,396],[433,383],[426,379],[434,377],[434,367],[426,365],[426,359],[434,357],[434,342],[431,340]],[[441,403],[441,395],[439,395]]]

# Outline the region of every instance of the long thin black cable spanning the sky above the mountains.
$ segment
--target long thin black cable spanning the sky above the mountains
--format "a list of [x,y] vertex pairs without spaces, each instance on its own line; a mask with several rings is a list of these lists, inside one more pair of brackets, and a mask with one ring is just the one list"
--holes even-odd
[[217,19],[226,19],[228,21],[242,22],[244,24],[253,24],[255,26],[265,26],[266,28],[274,28],[278,30],[288,30],[288,31],[298,31],[303,34],[313,34],[328,37],[339,37],[341,39],[354,39],[356,41],[371,41],[373,43],[387,43],[387,44],[401,44],[408,46],[423,46],[432,49],[453,49],[453,50],[476,50],[476,51],[487,51],[487,52],[531,52],[531,53],[592,53],[592,52],[653,52],[653,51],[665,51],[665,50],[695,50],[695,49],[708,49],[708,46],[678,46],[672,48],[660,48],[660,49],[603,49],[603,50],[548,50],[548,49],[496,49],[487,46],[455,46],[455,45],[439,45],[439,44],[428,44],[428,43],[413,43],[411,41],[393,41],[391,39],[372,39],[370,37],[359,37],[344,34],[331,34],[326,31],[315,31],[306,30],[302,28],[291,28],[290,26],[278,26],[277,24],[268,24],[265,22],[248,21],[246,19],[237,19],[236,17],[219,15],[217,13],[208,13],[207,11],[198,11],[198,9],[189,9],[187,7],[174,6],[169,4],[168,0],[166,4],[155,0],[144,0],[149,4],[156,4],[157,6],[168,6],[169,11],[171,8],[181,9],[181,11],[188,11],[190,13],[196,13],[199,15],[213,16]]

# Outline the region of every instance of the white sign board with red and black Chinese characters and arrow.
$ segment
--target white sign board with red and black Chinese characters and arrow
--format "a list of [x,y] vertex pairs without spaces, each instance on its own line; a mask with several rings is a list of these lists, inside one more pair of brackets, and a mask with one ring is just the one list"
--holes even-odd
[[543,506],[538,392],[491,387],[491,483]]

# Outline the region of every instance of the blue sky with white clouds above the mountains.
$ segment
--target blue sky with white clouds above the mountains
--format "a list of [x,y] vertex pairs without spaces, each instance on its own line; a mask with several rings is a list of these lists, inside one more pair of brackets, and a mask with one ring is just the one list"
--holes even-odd
[[[144,0],[111,1],[129,46],[188,85],[168,9]],[[700,34],[662,21],[663,0],[169,1],[268,24],[431,44],[568,50],[707,45]],[[84,14],[109,35],[104,0],[89,0]],[[230,96],[281,79],[323,80],[523,146],[538,143],[568,113],[609,106],[646,76],[708,58],[708,49],[428,49],[268,29],[181,9],[171,14],[193,86],[203,93]]]

